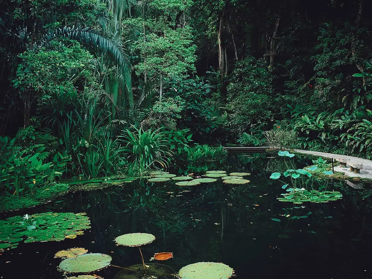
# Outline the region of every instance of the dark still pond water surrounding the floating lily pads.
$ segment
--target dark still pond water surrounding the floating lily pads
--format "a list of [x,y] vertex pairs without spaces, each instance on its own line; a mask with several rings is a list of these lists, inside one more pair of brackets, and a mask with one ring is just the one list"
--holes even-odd
[[[291,203],[276,199],[285,192],[282,183],[269,179],[272,172],[283,169],[282,161],[265,156],[270,155],[230,154],[226,162],[209,167],[250,172],[248,185],[227,186],[218,179],[179,187],[174,182],[137,180],[70,193],[37,208],[8,213],[3,218],[48,211],[87,212],[92,228],[74,240],[20,243],[4,251],[0,278],[64,278],[57,270],[61,260],[54,259],[54,254],[72,247],[109,254],[118,266],[139,264],[138,248],[118,247],[113,241],[130,232],[155,235],[153,243],[142,246],[145,261],[157,252],[173,252],[174,258],[162,263],[176,273],[187,264],[210,261],[228,264],[239,279],[372,278],[372,191],[330,182],[329,189],[342,192],[342,200],[304,203],[304,208],[292,211]],[[297,160],[297,167],[310,163],[306,158]],[[198,169],[180,167],[173,173],[185,171]],[[287,211],[291,216],[312,213],[288,222]],[[112,279],[119,271],[108,267],[95,274]]]

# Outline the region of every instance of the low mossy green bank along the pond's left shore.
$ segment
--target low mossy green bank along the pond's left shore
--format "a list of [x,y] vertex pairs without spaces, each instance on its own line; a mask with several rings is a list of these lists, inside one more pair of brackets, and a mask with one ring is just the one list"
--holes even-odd
[[0,212],[14,211],[24,208],[32,208],[43,203],[50,202],[62,195],[78,190],[89,191],[103,189],[113,185],[133,182],[140,177],[112,178],[106,177],[94,180],[65,180],[61,183],[40,187],[32,196],[20,196],[17,198],[13,195],[0,196]]

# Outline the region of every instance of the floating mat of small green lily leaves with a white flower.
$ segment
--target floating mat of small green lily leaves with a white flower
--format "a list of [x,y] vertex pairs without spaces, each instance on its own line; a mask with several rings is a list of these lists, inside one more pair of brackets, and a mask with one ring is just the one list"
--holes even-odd
[[40,213],[28,217],[33,225],[23,221],[22,216],[0,220],[0,249],[15,248],[22,240],[61,241],[71,236],[84,234],[90,228],[86,213]]

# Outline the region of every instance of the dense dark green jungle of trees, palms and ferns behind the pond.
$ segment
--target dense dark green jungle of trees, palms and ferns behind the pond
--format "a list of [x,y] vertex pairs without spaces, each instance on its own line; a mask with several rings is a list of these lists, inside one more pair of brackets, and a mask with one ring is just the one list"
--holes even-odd
[[[371,9],[365,0],[1,1],[2,163],[36,153],[74,174],[107,175],[120,152],[137,160],[141,137],[170,145],[154,151],[163,163],[191,141],[265,136],[370,157]],[[147,156],[135,164],[154,165]]]

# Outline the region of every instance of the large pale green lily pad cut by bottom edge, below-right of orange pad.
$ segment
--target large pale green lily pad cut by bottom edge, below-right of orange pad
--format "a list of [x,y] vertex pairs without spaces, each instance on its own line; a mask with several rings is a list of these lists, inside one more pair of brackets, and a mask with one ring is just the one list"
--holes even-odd
[[201,262],[184,266],[178,272],[182,279],[228,279],[234,270],[223,263]]

